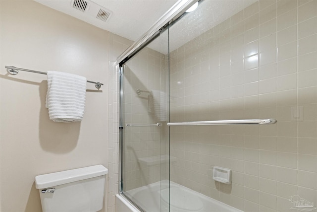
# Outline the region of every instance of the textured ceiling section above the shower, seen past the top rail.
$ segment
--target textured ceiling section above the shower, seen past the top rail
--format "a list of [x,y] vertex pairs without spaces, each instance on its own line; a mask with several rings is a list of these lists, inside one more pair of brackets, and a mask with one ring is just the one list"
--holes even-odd
[[[167,54],[168,51],[172,52],[256,1],[201,0],[196,10],[186,12],[176,24],[169,28],[169,42],[162,41],[166,40],[166,35],[160,36],[149,44],[149,47],[162,54]],[[168,43],[168,46],[164,43]]]

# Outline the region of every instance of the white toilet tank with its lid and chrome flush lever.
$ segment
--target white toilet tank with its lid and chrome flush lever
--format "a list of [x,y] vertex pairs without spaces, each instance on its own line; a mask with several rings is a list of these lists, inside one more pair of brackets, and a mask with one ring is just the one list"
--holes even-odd
[[102,210],[107,173],[103,165],[95,165],[36,176],[43,212]]

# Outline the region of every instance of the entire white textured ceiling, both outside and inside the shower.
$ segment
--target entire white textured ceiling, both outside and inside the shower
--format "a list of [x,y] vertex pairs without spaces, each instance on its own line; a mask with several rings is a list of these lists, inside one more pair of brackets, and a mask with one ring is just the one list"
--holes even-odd
[[[83,12],[72,7],[81,0],[35,0],[58,11],[64,12],[97,27],[120,35],[132,41],[138,40],[177,0],[85,0],[89,7]],[[182,46],[215,25],[257,0],[201,0],[194,12],[187,13],[170,28],[169,47],[162,38],[153,41],[149,47],[163,54]],[[112,14],[103,22],[96,18],[94,6],[104,7]],[[101,6],[101,7],[100,7]]]

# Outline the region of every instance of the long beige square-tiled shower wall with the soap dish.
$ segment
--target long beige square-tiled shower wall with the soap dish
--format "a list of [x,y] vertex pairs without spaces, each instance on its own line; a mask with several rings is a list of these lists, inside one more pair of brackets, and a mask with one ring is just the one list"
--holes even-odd
[[246,212],[294,211],[294,195],[315,205],[316,29],[317,0],[259,0],[170,54],[171,121],[277,120],[171,127],[172,181]]

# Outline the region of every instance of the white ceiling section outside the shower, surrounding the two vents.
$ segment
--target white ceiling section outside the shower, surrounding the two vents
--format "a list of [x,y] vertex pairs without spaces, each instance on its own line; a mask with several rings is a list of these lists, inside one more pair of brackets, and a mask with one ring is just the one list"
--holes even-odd
[[[73,8],[73,0],[35,1],[135,41],[148,31],[177,0],[92,0],[112,11],[106,22],[90,15],[89,11],[82,12]],[[91,2],[91,0],[86,1]]]

